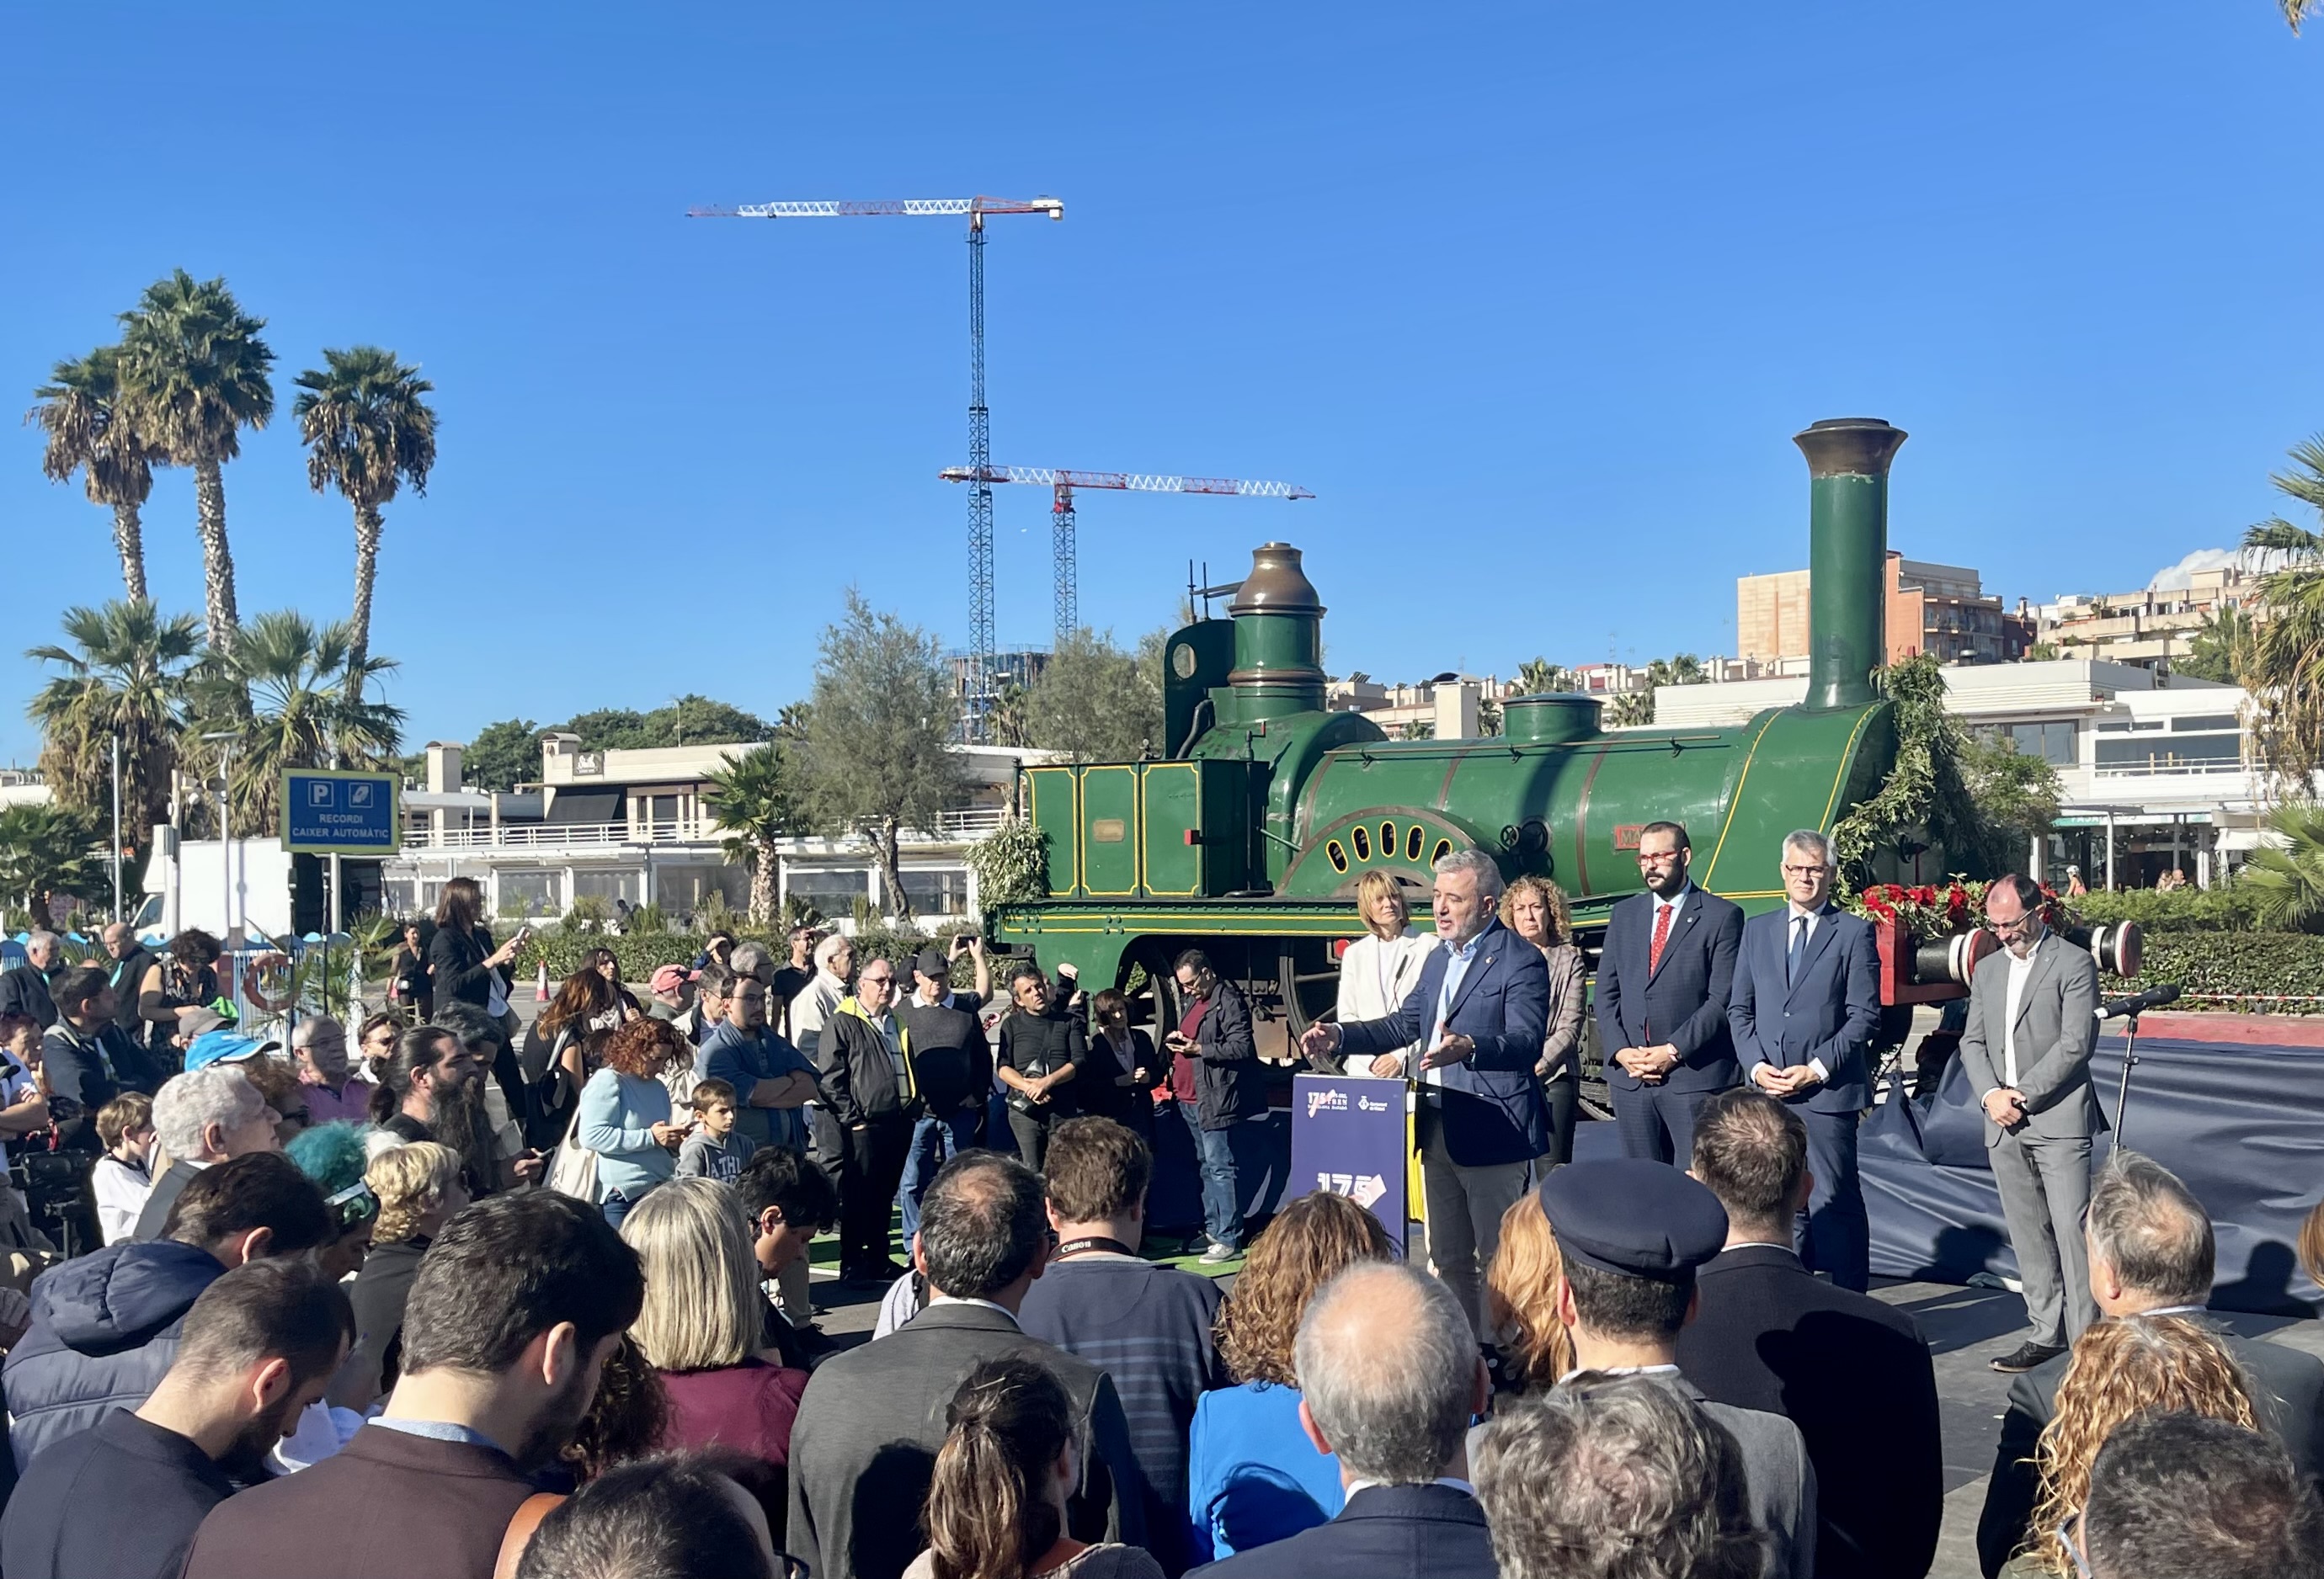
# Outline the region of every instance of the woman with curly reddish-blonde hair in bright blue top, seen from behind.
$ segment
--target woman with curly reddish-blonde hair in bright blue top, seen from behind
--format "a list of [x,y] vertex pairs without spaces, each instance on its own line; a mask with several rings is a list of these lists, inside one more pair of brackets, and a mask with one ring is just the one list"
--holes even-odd
[[1339,1458],[1299,1426],[1292,1340],[1315,1289],[1357,1261],[1394,1261],[1387,1228],[1348,1196],[1292,1201],[1243,1261],[1218,1310],[1218,1358],[1236,1386],[1195,1403],[1188,1442],[1188,1540],[1195,1563],[1297,1535],[1346,1502]]

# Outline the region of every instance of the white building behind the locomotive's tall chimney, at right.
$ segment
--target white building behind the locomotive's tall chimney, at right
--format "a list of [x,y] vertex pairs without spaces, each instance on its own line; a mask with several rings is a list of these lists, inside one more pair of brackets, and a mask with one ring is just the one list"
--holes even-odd
[[[2029,852],[2036,875],[2152,887],[2180,868],[2210,887],[2259,845],[2261,776],[2250,764],[2247,697],[2136,664],[2054,659],[1948,664],[1945,694],[1973,729],[2008,734],[2057,766],[2057,829]],[[1803,678],[1664,685],[1655,727],[1738,724],[1806,697]]]

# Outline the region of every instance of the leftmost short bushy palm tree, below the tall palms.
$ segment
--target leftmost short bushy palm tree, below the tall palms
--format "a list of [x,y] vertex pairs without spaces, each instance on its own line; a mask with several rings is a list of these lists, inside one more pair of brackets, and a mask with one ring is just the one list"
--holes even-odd
[[65,671],[26,708],[42,729],[42,776],[60,803],[102,813],[121,741],[121,831],[144,848],[146,831],[170,820],[186,685],[202,650],[195,620],[163,618],[144,599],[67,608],[65,641],[26,652]]

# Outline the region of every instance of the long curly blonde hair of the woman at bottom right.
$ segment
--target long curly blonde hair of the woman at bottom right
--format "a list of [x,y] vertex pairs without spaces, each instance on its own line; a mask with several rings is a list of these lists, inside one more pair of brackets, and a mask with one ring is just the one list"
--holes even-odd
[[2250,1384],[2236,1361],[2187,1317],[2101,1321],[2075,1340],[2057,1384],[2057,1407],[2033,1449],[2040,1470],[2033,1523],[2003,1574],[2075,1570],[2061,1533],[2082,1516],[2089,1465],[2115,1426],[2157,1409],[2187,1409],[2247,1430],[2259,1428]]

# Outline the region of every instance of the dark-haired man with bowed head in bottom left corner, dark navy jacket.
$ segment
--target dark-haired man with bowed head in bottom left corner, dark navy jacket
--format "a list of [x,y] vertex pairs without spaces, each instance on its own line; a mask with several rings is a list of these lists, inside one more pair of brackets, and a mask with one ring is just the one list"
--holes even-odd
[[33,1461],[0,1521],[0,1567],[174,1579],[209,1509],[267,1477],[267,1451],[323,1396],[353,1338],[346,1296],[314,1263],[225,1272],[186,1312],[151,1398]]

